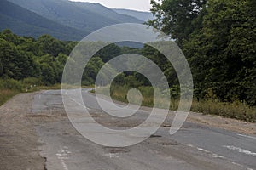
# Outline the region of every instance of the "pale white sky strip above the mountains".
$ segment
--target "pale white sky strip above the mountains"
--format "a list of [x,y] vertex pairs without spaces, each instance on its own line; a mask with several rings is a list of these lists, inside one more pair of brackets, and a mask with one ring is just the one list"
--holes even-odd
[[138,11],[148,11],[150,9],[150,0],[71,0],[89,3],[101,3],[108,8],[127,8]]

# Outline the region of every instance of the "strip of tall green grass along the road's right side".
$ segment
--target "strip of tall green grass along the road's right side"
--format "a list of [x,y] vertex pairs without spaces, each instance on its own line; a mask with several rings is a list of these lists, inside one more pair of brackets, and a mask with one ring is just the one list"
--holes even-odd
[[[143,106],[152,107],[154,105],[154,91],[153,88],[138,88],[143,94]],[[101,89],[101,93],[104,94],[105,88]],[[113,86],[111,88],[111,97],[113,99],[127,103],[127,92],[129,88],[127,86]],[[136,100],[138,95],[134,96]],[[164,103],[165,99],[160,99],[160,102]],[[179,104],[178,99],[171,99],[170,109],[177,110]],[[161,106],[160,106],[161,107]],[[240,102],[236,103],[220,103],[212,100],[194,100],[191,106],[191,111],[201,112],[206,115],[215,115],[234,118],[246,122],[256,122],[256,107],[249,107]]]

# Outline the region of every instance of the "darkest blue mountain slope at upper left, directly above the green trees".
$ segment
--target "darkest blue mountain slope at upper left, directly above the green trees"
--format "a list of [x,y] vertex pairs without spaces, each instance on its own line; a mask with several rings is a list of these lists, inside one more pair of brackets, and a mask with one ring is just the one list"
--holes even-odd
[[90,33],[63,26],[6,0],[0,1],[0,30],[3,29],[10,29],[20,36],[49,34],[61,40],[80,40]]

